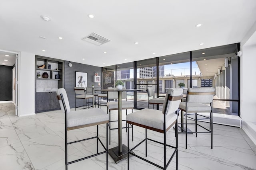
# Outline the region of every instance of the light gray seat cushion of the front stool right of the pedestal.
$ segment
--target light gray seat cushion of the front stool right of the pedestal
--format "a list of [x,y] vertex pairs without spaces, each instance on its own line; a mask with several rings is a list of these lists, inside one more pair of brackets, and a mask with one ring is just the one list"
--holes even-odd
[[[164,130],[163,118],[163,113],[160,110],[142,109],[140,111],[128,114],[126,120]],[[166,128],[168,128],[176,119],[177,115],[175,113],[166,115]]]

